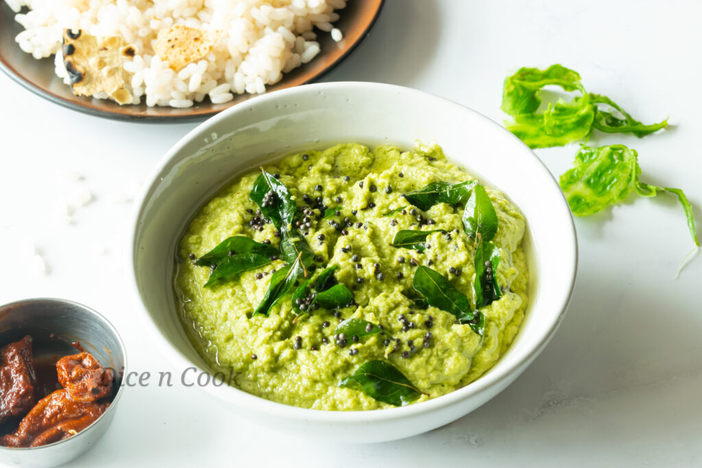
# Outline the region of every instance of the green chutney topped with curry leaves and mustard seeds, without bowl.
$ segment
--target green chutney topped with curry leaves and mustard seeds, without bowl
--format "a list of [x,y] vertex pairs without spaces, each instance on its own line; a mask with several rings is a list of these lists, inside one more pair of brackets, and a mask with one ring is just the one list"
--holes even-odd
[[346,143],[263,169],[208,201],[176,253],[180,319],[213,373],[279,403],[368,410],[452,392],[508,348],[528,302],[524,218],[440,147]]

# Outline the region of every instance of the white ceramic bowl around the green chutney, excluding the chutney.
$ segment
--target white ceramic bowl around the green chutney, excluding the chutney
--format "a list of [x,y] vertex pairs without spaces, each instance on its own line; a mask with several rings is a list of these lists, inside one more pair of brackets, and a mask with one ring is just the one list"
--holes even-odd
[[185,223],[225,182],[296,150],[337,142],[411,149],[416,141],[438,142],[450,159],[505,192],[527,218],[529,309],[503,358],[456,392],[386,410],[307,410],[226,385],[204,388],[223,406],[271,428],[346,442],[419,434],[505,389],[548,343],[570,300],[577,264],[571,212],[548,169],[497,123],[449,100],[378,83],[312,84],[253,98],[202,123],[161,159],[137,203],[128,244],[129,281],[161,351],[178,368],[206,369],[178,321],[173,258]]

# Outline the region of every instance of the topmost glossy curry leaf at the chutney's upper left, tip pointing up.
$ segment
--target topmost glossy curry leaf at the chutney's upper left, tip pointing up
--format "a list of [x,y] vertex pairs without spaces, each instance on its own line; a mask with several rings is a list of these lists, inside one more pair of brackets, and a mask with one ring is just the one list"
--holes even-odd
[[249,196],[277,229],[287,228],[293,222],[298,207],[288,187],[263,168]]

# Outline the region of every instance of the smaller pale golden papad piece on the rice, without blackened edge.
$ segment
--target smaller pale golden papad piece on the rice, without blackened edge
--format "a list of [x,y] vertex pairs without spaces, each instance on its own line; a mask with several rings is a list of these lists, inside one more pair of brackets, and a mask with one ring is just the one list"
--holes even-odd
[[210,53],[219,36],[218,31],[175,25],[170,29],[161,29],[154,41],[154,51],[177,72]]

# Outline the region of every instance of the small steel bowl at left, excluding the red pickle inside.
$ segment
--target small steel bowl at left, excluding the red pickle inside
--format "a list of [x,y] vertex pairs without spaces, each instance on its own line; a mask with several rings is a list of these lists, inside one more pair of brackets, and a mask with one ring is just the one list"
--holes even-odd
[[114,399],[110,407],[78,434],[62,441],[32,448],[0,446],[0,463],[18,467],[55,467],[73,460],[95,445],[114,418],[122,394],[126,354],[117,330],[102,315],[69,300],[37,298],[0,306],[0,347],[32,336],[35,361],[77,354],[79,342],[103,366],[114,370]]

